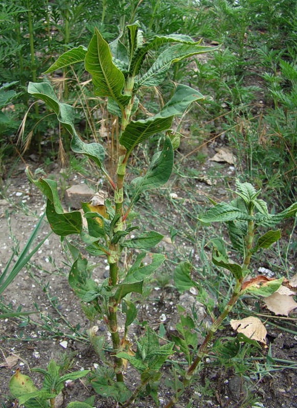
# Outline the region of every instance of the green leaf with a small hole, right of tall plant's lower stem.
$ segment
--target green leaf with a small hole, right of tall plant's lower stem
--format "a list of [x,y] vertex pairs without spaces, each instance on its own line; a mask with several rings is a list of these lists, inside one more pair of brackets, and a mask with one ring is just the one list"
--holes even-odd
[[147,265],[143,264],[144,258],[147,253],[141,252],[138,254],[134,264],[128,270],[127,275],[122,284],[131,284],[135,282],[141,282],[145,278],[149,277],[159,266],[163,264],[166,257],[161,253],[149,253],[148,256],[151,262]]

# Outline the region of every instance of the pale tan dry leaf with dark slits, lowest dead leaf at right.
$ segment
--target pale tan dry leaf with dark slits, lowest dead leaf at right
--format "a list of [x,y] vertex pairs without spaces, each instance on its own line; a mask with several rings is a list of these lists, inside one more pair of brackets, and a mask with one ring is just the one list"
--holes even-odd
[[245,317],[241,320],[230,321],[232,328],[238,333],[244,334],[249,339],[257,340],[260,343],[266,344],[267,330],[264,324],[258,317]]

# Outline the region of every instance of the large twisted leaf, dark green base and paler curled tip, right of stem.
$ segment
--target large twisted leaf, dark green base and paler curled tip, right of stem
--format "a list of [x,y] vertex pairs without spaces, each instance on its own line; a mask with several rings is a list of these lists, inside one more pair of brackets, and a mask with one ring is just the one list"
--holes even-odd
[[202,98],[203,95],[195,89],[186,85],[178,85],[172,98],[163,107],[161,112],[145,120],[132,120],[120,137],[120,143],[127,149],[127,156],[137,144],[149,136],[170,129],[175,115],[184,113],[192,102]]

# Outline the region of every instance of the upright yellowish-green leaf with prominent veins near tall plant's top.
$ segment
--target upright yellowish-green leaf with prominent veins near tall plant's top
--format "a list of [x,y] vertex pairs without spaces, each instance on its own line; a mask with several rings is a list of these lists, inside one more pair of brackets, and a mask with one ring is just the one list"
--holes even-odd
[[88,46],[85,69],[92,74],[96,96],[111,96],[122,109],[128,104],[131,96],[122,94],[124,74],[113,64],[109,46],[97,29]]

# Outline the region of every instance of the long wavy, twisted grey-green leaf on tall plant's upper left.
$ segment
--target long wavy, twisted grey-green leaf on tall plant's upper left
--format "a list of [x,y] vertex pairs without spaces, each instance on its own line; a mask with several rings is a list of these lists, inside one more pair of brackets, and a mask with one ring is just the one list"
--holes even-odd
[[94,160],[99,169],[101,169],[104,174],[107,175],[107,171],[103,166],[105,155],[104,148],[99,143],[84,143],[74,129],[74,108],[67,104],[61,104],[53,88],[47,82],[41,82],[39,84],[30,82],[28,92],[36,98],[43,100],[45,104],[53,109],[59,122],[66,127],[67,131],[72,136],[71,149],[75,153],[81,153]]

